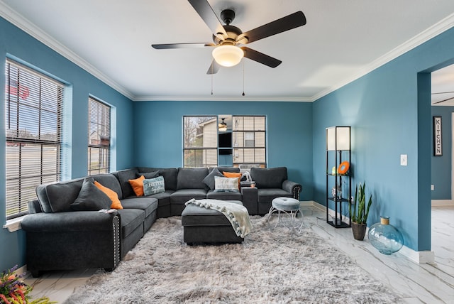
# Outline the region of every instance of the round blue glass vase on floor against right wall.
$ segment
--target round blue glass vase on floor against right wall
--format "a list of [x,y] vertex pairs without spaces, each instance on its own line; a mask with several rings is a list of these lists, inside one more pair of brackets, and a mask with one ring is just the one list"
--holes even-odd
[[394,254],[404,244],[402,234],[389,224],[389,217],[381,217],[380,223],[373,224],[367,232],[367,237],[369,237],[370,244],[382,254]]

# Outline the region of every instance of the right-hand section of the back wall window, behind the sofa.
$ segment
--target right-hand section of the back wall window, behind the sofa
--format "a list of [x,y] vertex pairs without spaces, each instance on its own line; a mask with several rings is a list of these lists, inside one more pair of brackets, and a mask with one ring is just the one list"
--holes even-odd
[[233,165],[266,167],[266,117],[233,116]]

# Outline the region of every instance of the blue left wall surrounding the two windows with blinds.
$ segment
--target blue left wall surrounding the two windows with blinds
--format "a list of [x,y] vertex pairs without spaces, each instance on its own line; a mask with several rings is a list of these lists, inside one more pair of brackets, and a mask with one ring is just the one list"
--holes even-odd
[[[28,36],[11,23],[0,18],[0,96],[5,96],[5,60],[12,55],[29,65],[40,68],[50,75],[68,82],[72,86],[72,142],[70,150],[70,177],[77,178],[87,175],[87,143],[88,143],[88,97],[89,94],[108,102],[116,108],[117,124],[114,145],[119,156],[113,164],[117,169],[129,168],[133,165],[132,151],[133,133],[131,124],[133,117],[133,102],[105,85],[82,68],[74,65],[58,55],[53,50]],[[0,117],[4,121],[4,107],[0,107]],[[5,141],[5,125],[0,124],[0,142]],[[0,176],[5,176],[5,150],[0,149]],[[0,180],[0,224],[5,224],[5,182]],[[24,232],[8,232],[0,228],[0,271],[18,264],[25,264],[25,237]]]

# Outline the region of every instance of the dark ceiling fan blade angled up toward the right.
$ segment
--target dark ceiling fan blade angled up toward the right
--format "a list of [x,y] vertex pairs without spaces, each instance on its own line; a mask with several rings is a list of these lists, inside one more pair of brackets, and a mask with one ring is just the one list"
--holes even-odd
[[251,43],[284,31],[289,31],[292,28],[297,28],[298,26],[304,26],[304,24],[306,24],[306,16],[304,16],[302,11],[297,11],[296,13],[291,13],[289,16],[285,16],[264,24],[263,26],[259,26],[258,28],[254,28],[253,30],[247,31],[238,36],[238,39],[245,36],[248,38],[248,43]]

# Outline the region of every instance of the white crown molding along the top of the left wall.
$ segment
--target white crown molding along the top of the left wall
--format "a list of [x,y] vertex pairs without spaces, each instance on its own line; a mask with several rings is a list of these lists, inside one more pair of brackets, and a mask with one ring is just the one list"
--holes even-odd
[[41,43],[44,43],[52,50],[55,50],[55,52],[67,58],[67,60],[70,60],[75,65],[81,67],[82,69],[92,74],[94,77],[106,83],[106,85],[109,85],[109,87],[112,87],[113,89],[123,94],[124,96],[128,97],[129,99],[135,99],[134,95],[131,94],[131,92],[128,92],[127,89],[125,89],[121,85],[118,85],[117,82],[112,80],[110,77],[104,75],[103,72],[96,69],[96,67],[88,63],[86,60],[81,58],[76,53],[72,52],[72,50],[70,50],[69,48],[66,48],[65,45],[59,43],[57,40],[48,35],[48,33],[45,33],[40,28],[38,28],[38,26],[35,26],[26,18],[23,18],[23,16],[21,16],[16,11],[11,9],[11,7],[6,5],[3,1],[0,1],[0,16],[4,18],[6,21],[12,23],[14,26],[20,28],[22,31],[28,33],[28,35],[37,39]]

